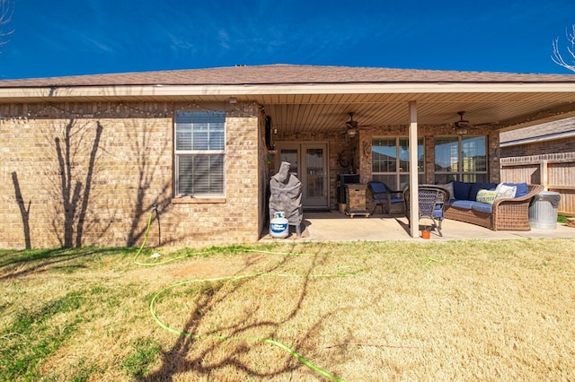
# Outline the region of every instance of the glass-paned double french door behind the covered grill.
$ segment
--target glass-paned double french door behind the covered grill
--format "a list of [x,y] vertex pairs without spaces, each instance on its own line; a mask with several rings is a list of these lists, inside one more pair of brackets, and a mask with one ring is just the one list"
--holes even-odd
[[302,182],[302,204],[305,207],[329,207],[329,171],[326,143],[281,143],[279,162],[289,162],[289,171]]

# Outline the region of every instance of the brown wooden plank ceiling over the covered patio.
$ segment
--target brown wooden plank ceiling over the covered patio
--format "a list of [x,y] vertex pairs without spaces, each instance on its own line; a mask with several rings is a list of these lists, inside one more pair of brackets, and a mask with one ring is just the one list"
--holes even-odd
[[341,94],[260,96],[258,102],[281,134],[344,132],[349,112],[358,127],[407,126],[409,101],[417,102],[418,124],[452,125],[464,111],[472,125],[502,131],[575,116],[575,93]]

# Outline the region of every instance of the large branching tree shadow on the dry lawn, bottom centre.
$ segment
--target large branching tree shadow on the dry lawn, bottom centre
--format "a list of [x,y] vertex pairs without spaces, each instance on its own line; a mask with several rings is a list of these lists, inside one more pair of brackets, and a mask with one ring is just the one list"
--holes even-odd
[[[261,365],[249,364],[248,362],[243,361],[242,358],[245,356],[246,352],[250,352],[254,346],[262,343],[261,340],[257,341],[254,339],[252,334],[254,328],[261,328],[262,334],[265,333],[267,338],[274,339],[274,336],[278,334],[282,326],[287,325],[301,313],[303,302],[308,294],[310,281],[313,278],[313,271],[322,260],[325,260],[324,256],[314,256],[310,258],[310,264],[308,265],[305,274],[299,276],[301,277],[301,287],[294,290],[294,302],[290,302],[290,304],[293,304],[293,307],[290,308],[290,310],[279,320],[260,319],[250,325],[239,323],[230,326],[217,327],[210,333],[198,334],[197,331],[199,327],[206,326],[202,325],[203,321],[207,319],[203,312],[216,308],[217,305],[226,304],[228,301],[232,302],[234,299],[234,292],[240,290],[246,283],[253,282],[253,279],[246,278],[235,280],[234,288],[231,291],[228,291],[225,295],[218,293],[218,290],[223,286],[223,284],[218,284],[213,289],[203,291],[199,300],[196,301],[195,306],[190,312],[190,316],[185,325],[181,328],[177,328],[177,330],[188,335],[178,336],[172,348],[162,353],[162,363],[159,369],[146,377],[137,378],[137,380],[141,382],[152,382],[156,380],[170,381],[173,380],[174,376],[181,376],[184,373],[192,373],[190,378],[215,378],[213,373],[217,372],[217,369],[221,369],[223,367],[233,367],[239,373],[243,372],[245,374],[245,378],[273,378],[282,374],[285,375],[286,373],[296,369],[305,368],[303,363],[293,359],[288,353],[286,353],[287,359],[281,359],[283,364],[278,365],[273,369],[273,371],[262,371]],[[289,256],[285,256],[278,264],[274,265],[272,269],[267,270],[267,273],[274,273],[274,271],[285,269],[282,267],[283,265],[287,265],[288,262]],[[249,272],[249,266],[250,264],[246,264],[243,269],[235,273],[235,275],[242,275],[244,274],[243,272]],[[252,310],[246,310],[243,314],[247,315],[247,317],[244,317],[242,321],[251,321],[252,317],[257,314],[258,308],[259,307],[254,307]],[[334,309],[332,313],[326,314],[324,317],[328,319],[336,314],[337,312]],[[322,326],[322,323],[317,322],[313,327],[317,328],[320,326]],[[291,338],[290,343],[287,345],[291,347],[291,344],[293,343],[298,344],[296,348],[292,349],[299,353],[301,351],[298,348],[305,348],[302,344],[307,342],[308,335],[310,335],[309,332],[299,336],[299,338]],[[201,338],[199,338],[199,336],[201,336]],[[221,338],[222,336],[226,336],[227,339],[219,340],[218,338]],[[206,347],[202,352],[190,357],[190,352],[192,352],[194,343],[199,341],[211,341],[213,344]],[[207,361],[209,359],[213,359],[214,354],[219,352],[217,348],[220,343],[229,343],[230,341],[237,341],[238,343],[233,350],[227,352],[226,356],[217,361]],[[206,343],[202,343],[202,346],[204,345],[206,345]],[[266,343],[265,346],[272,345]],[[310,344],[310,347],[313,347],[313,345]],[[270,362],[273,361],[274,360],[270,360]]]

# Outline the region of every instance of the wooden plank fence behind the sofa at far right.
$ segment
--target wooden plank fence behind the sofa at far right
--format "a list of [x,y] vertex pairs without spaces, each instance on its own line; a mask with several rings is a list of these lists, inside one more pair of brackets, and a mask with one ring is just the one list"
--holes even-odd
[[527,182],[543,185],[545,190],[561,195],[557,212],[575,216],[575,159],[528,160],[501,159],[502,182]]

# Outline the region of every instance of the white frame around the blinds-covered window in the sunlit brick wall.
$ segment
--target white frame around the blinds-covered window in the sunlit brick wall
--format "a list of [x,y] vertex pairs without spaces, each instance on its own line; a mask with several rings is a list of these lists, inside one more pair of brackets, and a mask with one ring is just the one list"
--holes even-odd
[[[190,149],[179,149],[179,143],[181,143],[179,141],[179,135],[178,135],[178,124],[182,124],[184,122],[179,122],[179,119],[181,120],[181,117],[184,117],[186,115],[192,115],[194,113],[198,113],[198,114],[205,114],[207,115],[207,122],[206,124],[208,125],[208,130],[207,130],[207,138],[206,138],[206,142],[205,144],[209,145],[209,139],[212,135],[210,135],[210,130],[209,130],[209,125],[210,124],[222,124],[222,131],[221,131],[221,149],[202,149],[202,150],[194,150],[193,149],[193,137],[194,134],[196,133],[201,133],[197,130],[194,129],[194,124],[196,124],[197,122],[187,122],[190,123]],[[217,131],[215,131],[215,133],[217,133]],[[201,110],[201,111],[196,111],[196,110],[178,110],[174,113],[174,118],[173,118],[173,163],[174,163],[174,196],[176,198],[181,198],[184,196],[190,196],[192,198],[204,198],[204,199],[209,199],[209,198],[225,198],[226,197],[226,133],[227,133],[227,129],[226,129],[226,111],[224,110]],[[214,135],[217,136],[217,135]],[[219,187],[221,187],[221,192],[187,192],[187,193],[182,193],[181,192],[181,184],[180,184],[180,170],[181,170],[181,158],[182,157],[200,157],[200,156],[213,156],[213,155],[217,155],[219,157],[221,157],[220,161],[221,161],[221,174],[219,174],[219,172],[216,174],[217,176],[219,176],[221,178],[221,185],[219,185]],[[210,161],[208,159],[208,161]],[[193,177],[193,169],[191,169],[190,171],[192,171],[190,173],[190,177]],[[211,172],[210,172],[211,174]],[[191,181],[192,185],[193,185],[193,180]],[[192,186],[193,187],[193,186]],[[210,187],[210,182],[208,181],[208,187]]]

